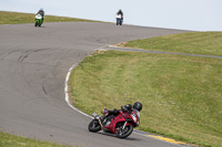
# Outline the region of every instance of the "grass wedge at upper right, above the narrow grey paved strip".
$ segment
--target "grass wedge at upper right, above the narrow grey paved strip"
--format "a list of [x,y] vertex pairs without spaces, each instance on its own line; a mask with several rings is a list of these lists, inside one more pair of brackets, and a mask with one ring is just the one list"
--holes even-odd
[[222,55],[222,32],[188,32],[129,41],[130,48],[206,55]]

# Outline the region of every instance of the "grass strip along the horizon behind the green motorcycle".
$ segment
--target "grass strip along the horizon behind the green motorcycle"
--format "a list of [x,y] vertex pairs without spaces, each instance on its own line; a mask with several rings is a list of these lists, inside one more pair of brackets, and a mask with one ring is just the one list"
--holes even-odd
[[[0,24],[19,24],[19,23],[34,23],[36,13],[19,13],[0,11]],[[69,21],[90,21],[83,19],[65,18],[65,17],[53,17],[46,14],[44,22],[69,22]]]

